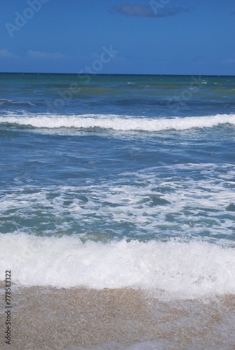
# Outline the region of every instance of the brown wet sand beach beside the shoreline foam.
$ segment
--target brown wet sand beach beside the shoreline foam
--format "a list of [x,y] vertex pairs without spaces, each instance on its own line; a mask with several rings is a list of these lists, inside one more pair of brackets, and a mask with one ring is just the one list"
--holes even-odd
[[231,295],[206,303],[162,302],[132,289],[18,286],[12,286],[8,345],[5,290],[0,287],[1,349],[126,349],[140,342],[139,349],[235,349]]

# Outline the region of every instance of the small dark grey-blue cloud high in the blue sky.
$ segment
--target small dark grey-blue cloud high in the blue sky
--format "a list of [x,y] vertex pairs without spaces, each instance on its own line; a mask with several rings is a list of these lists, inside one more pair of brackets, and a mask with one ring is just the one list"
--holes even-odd
[[114,6],[114,12],[121,15],[132,16],[132,17],[149,17],[149,18],[166,18],[174,15],[179,15],[180,13],[189,12],[189,8],[168,8],[164,6],[160,8],[157,13],[151,6],[140,6],[140,5],[121,5]]

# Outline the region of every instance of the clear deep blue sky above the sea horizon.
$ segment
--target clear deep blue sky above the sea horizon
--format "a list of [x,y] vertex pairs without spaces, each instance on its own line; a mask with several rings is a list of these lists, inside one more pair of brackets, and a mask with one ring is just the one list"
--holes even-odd
[[0,71],[235,74],[234,0],[1,0]]

